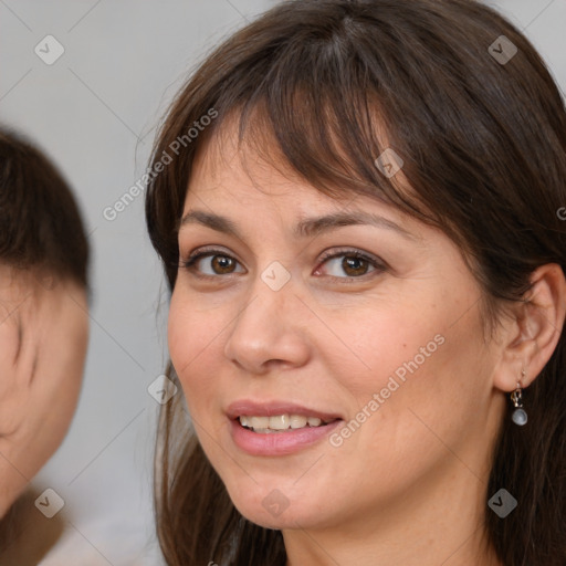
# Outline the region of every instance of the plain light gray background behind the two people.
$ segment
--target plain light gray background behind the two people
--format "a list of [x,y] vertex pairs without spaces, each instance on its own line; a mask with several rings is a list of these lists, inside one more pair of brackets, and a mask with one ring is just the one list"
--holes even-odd
[[[0,0],[0,122],[63,170],[94,251],[78,409],[34,481],[65,501],[66,531],[44,566],[158,564],[150,488],[158,405],[147,387],[167,358],[166,287],[145,232],[144,196],[114,221],[103,210],[144,172],[155,127],[187,72],[274,3]],[[566,0],[490,3],[525,31],[565,92]],[[53,65],[34,53],[48,34],[65,49]]]

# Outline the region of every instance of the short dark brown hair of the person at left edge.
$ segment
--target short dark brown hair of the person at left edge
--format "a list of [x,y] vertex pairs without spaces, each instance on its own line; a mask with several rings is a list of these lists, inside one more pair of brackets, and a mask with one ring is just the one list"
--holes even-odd
[[87,287],[88,242],[62,175],[19,135],[0,132],[0,262]]

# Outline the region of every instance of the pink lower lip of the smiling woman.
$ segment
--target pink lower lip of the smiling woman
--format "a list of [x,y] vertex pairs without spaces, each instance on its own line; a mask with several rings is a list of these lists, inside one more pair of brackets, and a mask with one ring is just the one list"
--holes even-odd
[[329,434],[342,420],[322,427],[289,429],[285,432],[253,432],[232,419],[232,440],[235,446],[252,455],[285,455],[298,452]]

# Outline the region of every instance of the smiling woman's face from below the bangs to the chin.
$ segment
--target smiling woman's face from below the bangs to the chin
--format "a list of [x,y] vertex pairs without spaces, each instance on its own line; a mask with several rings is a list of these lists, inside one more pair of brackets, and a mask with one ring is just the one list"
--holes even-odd
[[195,164],[180,264],[203,255],[179,269],[169,348],[235,506],[316,528],[475,490],[504,401],[458,248],[248,149],[244,169],[231,139]]

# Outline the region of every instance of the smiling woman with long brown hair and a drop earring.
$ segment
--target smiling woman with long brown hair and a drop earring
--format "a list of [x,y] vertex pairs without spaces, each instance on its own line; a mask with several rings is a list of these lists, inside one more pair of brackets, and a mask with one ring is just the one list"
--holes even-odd
[[283,2],[151,167],[167,564],[566,563],[566,114],[511,23]]

